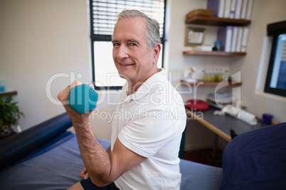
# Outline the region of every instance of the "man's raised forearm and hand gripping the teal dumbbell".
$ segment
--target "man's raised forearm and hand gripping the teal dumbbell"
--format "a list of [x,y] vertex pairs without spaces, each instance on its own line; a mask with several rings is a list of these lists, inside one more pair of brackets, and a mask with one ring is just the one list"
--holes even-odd
[[[83,162],[88,169],[90,179],[93,183],[97,184],[97,186],[103,186],[111,183],[112,180],[114,181],[115,178],[118,177],[116,172],[113,177],[110,177],[111,169],[116,171],[116,169],[114,169],[116,167],[111,167],[111,163],[115,163],[116,165],[117,162],[116,159],[112,159],[112,156],[106,152],[96,140],[95,135],[93,135],[89,117],[91,112],[79,114],[67,104],[70,88],[80,84],[80,82],[73,82],[70,84],[70,86],[58,93],[58,99],[63,103],[63,106],[73,123]],[[112,162],[112,160],[115,161]]]

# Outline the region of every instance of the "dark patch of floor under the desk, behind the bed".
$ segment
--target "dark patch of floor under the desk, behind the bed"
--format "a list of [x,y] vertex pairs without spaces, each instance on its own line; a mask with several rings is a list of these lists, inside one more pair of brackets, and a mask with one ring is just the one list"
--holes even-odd
[[222,155],[221,150],[216,150],[216,159],[213,161],[211,159],[213,150],[203,149],[203,150],[192,150],[184,152],[184,160],[190,160],[193,162],[198,162],[201,164],[207,164],[215,167],[222,167]]

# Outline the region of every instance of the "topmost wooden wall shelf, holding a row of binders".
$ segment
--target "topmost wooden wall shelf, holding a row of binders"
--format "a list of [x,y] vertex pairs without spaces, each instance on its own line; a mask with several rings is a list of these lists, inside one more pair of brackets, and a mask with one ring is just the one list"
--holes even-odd
[[247,26],[251,21],[243,19],[218,18],[213,16],[192,16],[190,18],[186,18],[185,23],[208,26]]

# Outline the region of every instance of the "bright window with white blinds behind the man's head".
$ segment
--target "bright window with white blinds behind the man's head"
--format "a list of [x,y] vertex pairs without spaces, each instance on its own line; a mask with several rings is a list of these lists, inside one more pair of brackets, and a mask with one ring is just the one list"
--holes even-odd
[[125,9],[137,9],[159,22],[161,55],[158,67],[163,67],[165,4],[164,0],[90,0],[92,81],[95,89],[121,89],[125,83],[112,60],[111,43],[116,16]]

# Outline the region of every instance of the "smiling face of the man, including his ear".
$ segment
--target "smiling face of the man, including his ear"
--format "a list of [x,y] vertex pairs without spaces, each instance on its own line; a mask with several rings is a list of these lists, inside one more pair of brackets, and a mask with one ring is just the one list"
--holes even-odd
[[[143,18],[123,18],[114,29],[113,61],[121,77],[132,85],[145,82],[157,72],[160,45],[148,50],[145,40],[146,24]],[[122,76],[123,75],[123,76]]]

